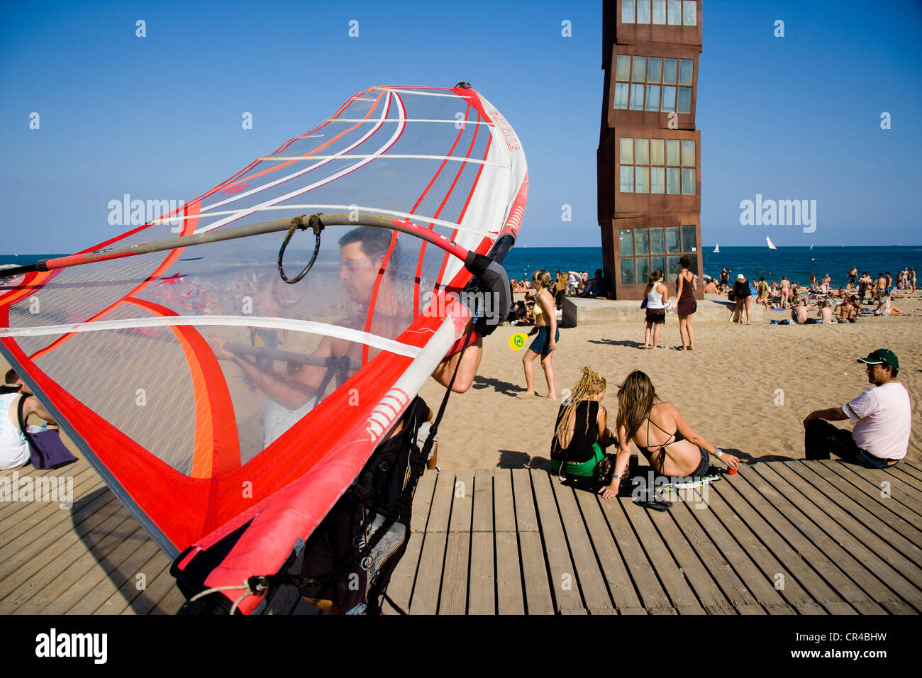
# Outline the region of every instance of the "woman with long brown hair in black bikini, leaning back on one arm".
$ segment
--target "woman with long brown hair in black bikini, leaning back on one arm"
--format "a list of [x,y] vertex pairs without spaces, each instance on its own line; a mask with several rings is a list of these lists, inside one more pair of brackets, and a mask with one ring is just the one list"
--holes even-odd
[[657,475],[701,478],[710,467],[708,453],[736,469],[739,458],[708,443],[691,429],[676,406],[658,402],[650,377],[634,370],[618,387],[615,432],[618,456],[611,484],[599,490],[606,499],[618,495],[618,487],[631,459],[631,441]]

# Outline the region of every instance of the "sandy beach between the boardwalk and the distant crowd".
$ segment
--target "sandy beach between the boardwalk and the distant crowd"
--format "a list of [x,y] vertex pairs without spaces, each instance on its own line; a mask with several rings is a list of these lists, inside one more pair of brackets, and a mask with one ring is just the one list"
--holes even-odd
[[[916,291],[897,302],[904,311],[922,307]],[[813,314],[811,314],[813,315]],[[644,340],[640,312],[635,324],[561,328],[554,353],[557,397],[572,388],[590,365],[608,381],[603,404],[613,420],[617,389],[632,370],[650,375],[663,400],[678,407],[691,427],[709,442],[746,459],[803,458],[803,419],[857,397],[869,388],[856,359],[889,348],[900,359],[898,376],[913,404],[913,432],[907,458],[922,454],[922,314],[865,317],[855,324],[751,326],[701,323],[697,351],[680,345],[679,323],[669,315],[660,344],[668,351],[637,348]],[[786,317],[777,312],[772,317]],[[450,398],[439,428],[439,466],[447,469],[550,468],[550,438],[558,401],[520,400],[525,391],[522,355],[509,338],[529,327],[498,327],[484,342],[474,386]],[[547,395],[535,361],[535,387]],[[435,410],[443,389],[430,381],[421,391]],[[850,422],[835,422],[851,428]],[[636,449],[633,450],[636,453]]]

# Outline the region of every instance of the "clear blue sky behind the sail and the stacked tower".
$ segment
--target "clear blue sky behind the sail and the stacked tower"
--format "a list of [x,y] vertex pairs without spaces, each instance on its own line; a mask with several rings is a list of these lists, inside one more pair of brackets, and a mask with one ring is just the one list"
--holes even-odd
[[[77,251],[124,230],[107,221],[112,199],[191,199],[356,91],[458,80],[522,139],[519,244],[597,245],[601,11],[595,1],[0,4],[0,252]],[[922,243],[919,30],[917,0],[704,0],[703,243]],[[756,194],[816,200],[816,232],[741,226],[739,202]]]

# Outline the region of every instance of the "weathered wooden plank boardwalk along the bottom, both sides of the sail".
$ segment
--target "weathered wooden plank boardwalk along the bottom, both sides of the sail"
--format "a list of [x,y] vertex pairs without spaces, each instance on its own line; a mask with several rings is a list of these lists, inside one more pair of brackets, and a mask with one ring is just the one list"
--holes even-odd
[[[179,609],[169,560],[89,465],[27,475],[33,499],[72,476],[74,504],[0,494],[0,613]],[[657,512],[544,471],[427,471],[388,592],[410,614],[922,612],[918,462],[753,463],[685,499]]]

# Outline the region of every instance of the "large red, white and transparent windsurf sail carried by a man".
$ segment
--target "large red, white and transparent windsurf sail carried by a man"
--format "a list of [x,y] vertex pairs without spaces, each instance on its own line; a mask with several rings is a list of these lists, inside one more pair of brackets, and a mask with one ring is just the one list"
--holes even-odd
[[[171,557],[236,535],[207,585],[240,584],[306,540],[463,335],[458,252],[502,258],[527,186],[476,90],[366,89],[80,265],[6,281],[0,351]],[[318,213],[355,223],[290,232],[284,262],[280,232],[187,245]]]

